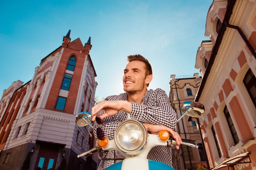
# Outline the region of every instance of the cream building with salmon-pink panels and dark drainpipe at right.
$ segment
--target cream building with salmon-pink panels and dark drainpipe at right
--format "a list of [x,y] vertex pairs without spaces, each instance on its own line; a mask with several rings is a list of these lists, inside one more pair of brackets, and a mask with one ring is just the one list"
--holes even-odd
[[256,1],[213,0],[195,68],[212,170],[256,170]]

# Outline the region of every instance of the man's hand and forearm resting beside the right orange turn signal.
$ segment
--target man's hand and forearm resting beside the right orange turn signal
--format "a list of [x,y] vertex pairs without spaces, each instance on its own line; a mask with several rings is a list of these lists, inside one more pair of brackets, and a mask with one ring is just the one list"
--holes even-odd
[[144,126],[146,128],[147,131],[150,131],[151,134],[155,134],[157,135],[161,130],[167,130],[170,135],[172,136],[173,139],[175,139],[177,145],[176,145],[176,149],[180,148],[180,144],[182,144],[180,135],[173,131],[171,128],[163,126],[163,125],[152,125],[150,123],[144,123]]

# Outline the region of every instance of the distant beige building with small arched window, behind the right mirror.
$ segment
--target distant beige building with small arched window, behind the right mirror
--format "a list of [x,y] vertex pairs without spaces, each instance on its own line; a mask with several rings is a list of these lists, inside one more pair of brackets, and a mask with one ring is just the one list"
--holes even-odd
[[[171,75],[169,100],[172,108],[175,108],[177,118],[183,113],[180,105],[186,101],[194,101],[200,84],[201,77],[198,73],[194,76]],[[195,140],[199,149],[182,145],[179,150],[173,150],[172,164],[175,170],[196,170],[198,164],[204,164],[207,167],[198,127],[194,121],[188,121],[188,118],[186,115],[177,123],[177,131],[182,139]]]

